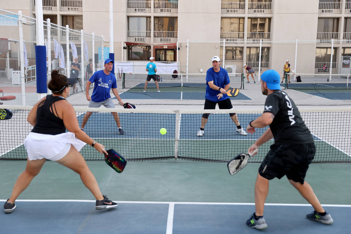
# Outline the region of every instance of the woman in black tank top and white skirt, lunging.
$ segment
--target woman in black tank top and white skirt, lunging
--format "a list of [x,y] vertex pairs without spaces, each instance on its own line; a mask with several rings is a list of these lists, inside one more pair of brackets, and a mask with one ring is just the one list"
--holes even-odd
[[65,99],[74,83],[74,78],[68,79],[59,71],[52,71],[48,88],[53,94],[42,98],[29,112],[27,121],[34,128],[23,143],[28,153],[27,166],[18,177],[11,197],[5,202],[5,213],[11,213],[16,208],[15,200],[40,172],[47,159],[57,161],[80,175],[84,185],[95,196],[96,209],[117,206],[117,203],[101,194],[93,173],[79,153],[86,143],[101,154],[107,152],[103,145],[80,130],[73,106]]

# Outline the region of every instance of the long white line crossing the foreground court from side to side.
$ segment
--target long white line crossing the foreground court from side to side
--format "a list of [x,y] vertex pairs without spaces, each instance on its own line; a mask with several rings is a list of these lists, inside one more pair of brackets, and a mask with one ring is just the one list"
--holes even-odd
[[[6,201],[0,199],[0,201]],[[16,201],[27,202],[96,202],[95,200],[32,200],[32,199],[19,199]],[[254,206],[255,203],[245,202],[167,202],[167,201],[114,201],[117,203],[137,203],[137,204],[183,204],[183,205],[250,205]],[[265,206],[311,206],[310,204],[293,204],[293,203],[265,203]],[[351,205],[336,205],[336,204],[322,204],[328,207],[351,207]]]

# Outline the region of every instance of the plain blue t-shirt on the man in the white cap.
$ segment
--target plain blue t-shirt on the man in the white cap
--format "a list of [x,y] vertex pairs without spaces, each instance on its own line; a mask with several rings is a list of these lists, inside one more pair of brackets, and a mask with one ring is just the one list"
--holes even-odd
[[213,81],[214,85],[217,85],[218,87],[224,88],[224,86],[226,86],[227,84],[230,83],[229,75],[228,75],[228,72],[226,69],[223,69],[220,67],[219,72],[215,72],[213,67],[211,67],[210,69],[207,70],[205,98],[210,100],[210,101],[214,101],[214,102],[223,101],[223,100],[229,98],[229,96],[225,93],[225,94],[223,94],[222,98],[218,99],[217,94],[219,94],[220,92],[218,90],[212,89],[208,85],[209,81]]

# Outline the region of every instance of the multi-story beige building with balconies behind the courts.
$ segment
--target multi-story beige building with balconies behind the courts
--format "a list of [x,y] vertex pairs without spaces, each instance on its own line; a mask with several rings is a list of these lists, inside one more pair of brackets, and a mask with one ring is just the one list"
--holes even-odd
[[[2,1],[1,8],[35,17],[34,2]],[[104,35],[109,47],[108,0],[42,2],[44,19]],[[199,73],[219,55],[236,72],[246,63],[283,73],[288,59],[298,73],[325,72],[325,65],[339,73],[342,56],[351,55],[351,0],[114,0],[113,29],[116,61],[154,56]]]

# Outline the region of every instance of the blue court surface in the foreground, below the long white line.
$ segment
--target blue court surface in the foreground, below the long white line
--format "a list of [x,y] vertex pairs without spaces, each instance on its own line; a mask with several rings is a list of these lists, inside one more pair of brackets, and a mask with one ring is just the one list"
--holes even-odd
[[[4,200],[2,200],[4,201]],[[325,225],[305,218],[304,204],[266,204],[267,228],[246,226],[252,203],[118,202],[95,210],[95,201],[17,200],[11,214],[0,213],[1,233],[348,233],[350,205],[323,205],[334,222]]]

